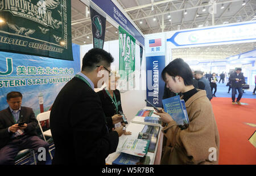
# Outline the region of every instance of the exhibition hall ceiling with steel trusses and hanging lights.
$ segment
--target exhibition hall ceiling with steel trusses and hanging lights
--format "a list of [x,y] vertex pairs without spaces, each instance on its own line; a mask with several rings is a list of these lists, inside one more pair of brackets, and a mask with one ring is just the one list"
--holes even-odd
[[[213,22],[214,25],[220,25],[256,20],[255,0],[216,0],[214,20],[212,20],[212,14],[209,13],[209,7],[212,7],[212,0],[115,1],[119,3],[144,35],[180,29],[207,27],[212,25]],[[72,42],[79,45],[92,44],[89,10],[86,10],[84,3],[79,0],[72,0],[71,3]],[[105,41],[117,39],[118,29],[107,22]],[[248,50],[255,48],[254,43],[251,43],[236,46],[230,45],[230,49],[227,49],[230,50],[230,52],[240,50],[240,53],[242,53],[246,50],[247,46],[249,46]],[[204,50],[206,49],[207,47],[204,48]],[[196,50],[196,48],[193,48],[193,50]],[[214,48],[214,50],[219,51],[218,48]],[[185,53],[187,49],[180,49],[180,51]]]

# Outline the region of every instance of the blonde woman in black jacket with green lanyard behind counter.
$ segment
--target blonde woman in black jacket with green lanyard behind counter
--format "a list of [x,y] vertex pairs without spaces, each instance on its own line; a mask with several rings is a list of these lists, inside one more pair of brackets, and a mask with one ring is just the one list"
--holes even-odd
[[[124,115],[121,105],[121,95],[118,89],[116,89],[117,81],[119,78],[119,75],[115,71],[112,71],[112,76],[109,77],[108,88],[104,88],[97,92],[101,99],[102,108],[106,116],[106,122],[108,124],[109,131],[112,131],[115,127],[121,126],[120,122],[114,124],[111,117],[115,114]],[[125,123],[122,123],[122,126],[125,126]],[[131,135],[131,132],[125,132],[125,135]]]

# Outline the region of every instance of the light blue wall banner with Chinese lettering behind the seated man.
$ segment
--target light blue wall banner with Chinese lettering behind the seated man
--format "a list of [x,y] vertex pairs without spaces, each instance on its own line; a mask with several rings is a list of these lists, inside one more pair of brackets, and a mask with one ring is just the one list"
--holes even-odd
[[22,106],[35,114],[51,108],[60,89],[81,71],[80,46],[72,44],[74,61],[0,52],[0,110],[9,105],[6,95],[22,93]]

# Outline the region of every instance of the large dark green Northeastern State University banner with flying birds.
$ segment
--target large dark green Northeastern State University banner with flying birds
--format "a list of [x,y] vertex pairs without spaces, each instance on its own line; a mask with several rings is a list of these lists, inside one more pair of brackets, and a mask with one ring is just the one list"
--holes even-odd
[[0,50],[73,61],[71,1],[0,0]]

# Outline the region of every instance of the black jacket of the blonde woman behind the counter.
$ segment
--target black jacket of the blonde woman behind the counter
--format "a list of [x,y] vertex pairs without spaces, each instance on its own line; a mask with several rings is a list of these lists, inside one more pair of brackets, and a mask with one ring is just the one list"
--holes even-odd
[[[120,92],[118,91],[118,89],[115,89],[113,91],[113,93],[115,94],[115,98],[117,100],[117,103],[119,102],[118,103],[119,104],[118,105],[118,111],[121,111],[121,113],[123,113],[122,105],[121,105]],[[101,99],[102,109],[104,110],[104,113],[105,113],[105,116],[106,116],[106,122],[107,122],[107,126],[109,128],[109,131],[112,131],[112,128],[114,128],[113,121],[112,121],[112,116],[117,114],[116,111],[115,111],[115,105],[113,104],[113,101],[111,100],[109,95],[106,93],[105,89],[102,89],[101,91],[98,91],[97,95]],[[118,114],[119,114],[119,112],[118,112]]]

